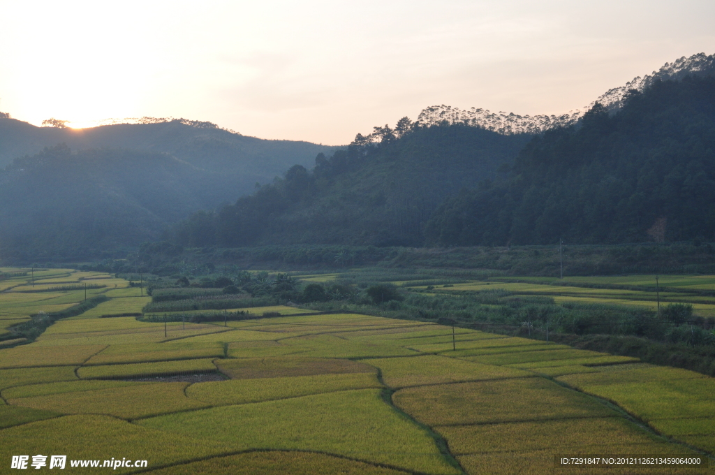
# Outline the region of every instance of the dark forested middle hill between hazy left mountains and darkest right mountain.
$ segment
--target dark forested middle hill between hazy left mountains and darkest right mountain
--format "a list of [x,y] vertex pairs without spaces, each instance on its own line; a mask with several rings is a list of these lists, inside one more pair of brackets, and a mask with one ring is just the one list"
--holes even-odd
[[174,240],[222,247],[419,246],[440,202],[495,177],[530,138],[459,124],[420,127],[405,117],[394,130],[375,127],[372,137],[358,134],[330,158],[318,155],[312,172],[296,165],[235,205],[193,215],[177,226]]

